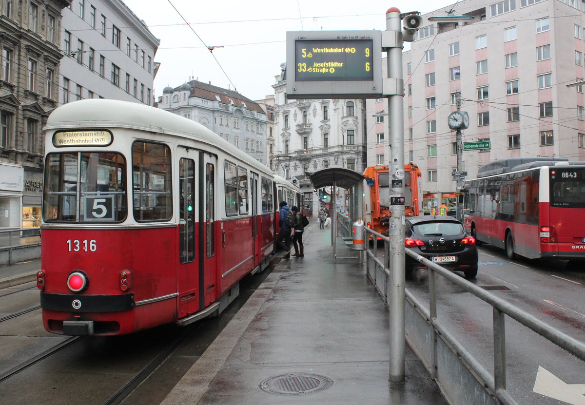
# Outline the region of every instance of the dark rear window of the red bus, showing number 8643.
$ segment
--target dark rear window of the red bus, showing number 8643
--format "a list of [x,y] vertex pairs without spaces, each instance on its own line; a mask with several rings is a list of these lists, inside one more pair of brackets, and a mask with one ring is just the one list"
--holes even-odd
[[550,169],[550,206],[585,208],[585,167]]

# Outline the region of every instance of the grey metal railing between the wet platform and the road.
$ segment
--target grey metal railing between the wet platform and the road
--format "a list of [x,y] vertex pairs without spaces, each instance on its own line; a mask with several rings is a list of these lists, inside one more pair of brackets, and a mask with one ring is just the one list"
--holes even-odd
[[[390,238],[378,234],[369,228],[365,228],[365,231],[367,236],[372,236],[374,239],[374,243],[371,249],[367,248],[366,246],[366,271],[374,286],[376,286],[378,293],[380,293],[384,299],[384,302],[388,305],[388,280],[392,280],[390,269]],[[379,248],[375,242],[376,237],[384,241],[384,253],[381,260],[378,258]],[[423,258],[409,249],[406,249],[405,253],[415,260],[418,260],[418,262],[421,262],[429,269],[429,308],[425,308],[424,305],[419,302],[417,298],[415,298],[408,290],[406,290],[406,299],[408,303],[418,311],[419,314],[422,314],[424,321],[430,329],[431,338],[428,339],[428,343],[431,344],[431,347],[425,348],[426,351],[430,353],[428,356],[431,362],[429,368],[431,369],[431,376],[433,379],[436,379],[443,388],[448,386],[448,384],[441,382],[437,375],[438,356],[436,353],[438,351],[437,344],[439,336],[448,342],[448,345],[451,346],[452,350],[456,353],[456,356],[460,356],[460,358],[466,362],[466,365],[473,370],[481,382],[483,382],[484,386],[486,386],[491,390],[491,392],[494,393],[497,403],[506,405],[518,404],[517,401],[512,398],[510,392],[508,392],[506,389],[506,316],[518,321],[520,324],[541,335],[548,341],[559,346],[573,356],[576,356],[576,358],[580,359],[581,361],[585,361],[584,342],[577,341],[569,335],[560,332],[556,328],[546,324],[546,322],[538,320],[533,315],[526,313],[525,311],[508,303],[502,298],[497,297],[484,289],[481,289],[481,287],[470,283],[457,274],[454,274],[449,270],[436,265],[430,260]],[[493,308],[493,375],[488,372],[488,370],[486,370],[486,368],[484,368],[484,366],[481,365],[481,363],[477,361],[477,359],[474,358],[466,348],[464,348],[464,346],[455,338],[455,335],[453,335],[452,332],[448,330],[448,327],[446,327],[445,324],[437,319],[437,293],[439,290],[436,287],[436,274],[439,274],[450,280],[450,282],[457,284],[457,286],[460,286],[467,292],[472,293],[477,298],[480,298],[480,300],[490,304],[490,306]],[[390,310],[392,310],[392,308],[390,308]],[[449,374],[447,375],[449,376]]]

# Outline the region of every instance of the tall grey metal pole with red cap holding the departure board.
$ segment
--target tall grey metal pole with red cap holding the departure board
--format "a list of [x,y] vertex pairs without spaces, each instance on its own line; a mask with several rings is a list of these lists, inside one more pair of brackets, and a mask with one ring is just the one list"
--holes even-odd
[[[393,46],[386,48],[388,79],[388,132],[390,162],[388,174],[390,198],[390,381],[404,381],[405,356],[405,269],[404,269],[404,79],[402,78],[402,24],[400,10],[386,12],[386,30],[395,35]],[[385,44],[383,44],[384,46]],[[392,90],[390,90],[392,88]],[[402,201],[402,204],[400,202]]]

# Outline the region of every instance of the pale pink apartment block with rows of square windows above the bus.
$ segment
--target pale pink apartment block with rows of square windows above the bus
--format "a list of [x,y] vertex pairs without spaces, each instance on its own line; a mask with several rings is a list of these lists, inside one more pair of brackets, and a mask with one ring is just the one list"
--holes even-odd
[[[405,162],[422,170],[424,207],[455,201],[456,131],[447,118],[457,93],[470,116],[463,143],[490,142],[490,149],[463,150],[467,179],[505,157],[585,160],[583,85],[567,87],[585,77],[585,3],[463,0],[452,14],[472,20],[428,21],[449,11],[423,15],[424,26],[403,53]],[[369,100],[367,118],[369,139],[381,141],[368,155],[376,164],[387,153],[386,99]]]

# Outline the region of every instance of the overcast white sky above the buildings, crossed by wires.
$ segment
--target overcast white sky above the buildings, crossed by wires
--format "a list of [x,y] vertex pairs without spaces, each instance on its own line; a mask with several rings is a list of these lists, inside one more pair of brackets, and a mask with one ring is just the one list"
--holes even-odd
[[[385,30],[390,7],[424,14],[452,4],[431,0],[122,1],[160,39],[154,57],[161,63],[154,79],[157,97],[167,85],[178,87],[193,77],[236,88],[253,100],[274,94],[270,86],[286,61],[287,31]],[[213,54],[207,49],[211,46],[216,47]]]

